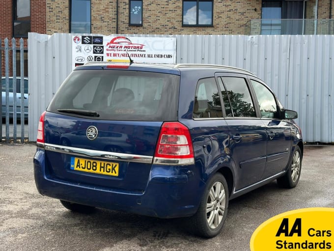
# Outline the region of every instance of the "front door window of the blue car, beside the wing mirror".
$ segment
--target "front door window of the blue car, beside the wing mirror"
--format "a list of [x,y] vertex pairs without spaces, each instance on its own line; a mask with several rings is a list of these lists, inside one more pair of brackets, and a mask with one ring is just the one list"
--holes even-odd
[[277,104],[274,95],[261,83],[251,80],[262,118],[278,118]]

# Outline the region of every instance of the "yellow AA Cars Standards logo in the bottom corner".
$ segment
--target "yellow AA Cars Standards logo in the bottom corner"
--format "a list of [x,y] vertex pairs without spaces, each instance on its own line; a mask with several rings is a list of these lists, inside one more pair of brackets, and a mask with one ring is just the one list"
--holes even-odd
[[263,222],[251,236],[251,251],[334,250],[334,208],[289,211]]

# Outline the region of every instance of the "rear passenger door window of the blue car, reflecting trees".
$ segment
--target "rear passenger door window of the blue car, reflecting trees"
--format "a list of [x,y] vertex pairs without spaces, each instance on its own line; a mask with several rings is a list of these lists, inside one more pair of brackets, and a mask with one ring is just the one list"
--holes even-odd
[[256,117],[246,80],[239,77],[223,77],[223,83],[231,101],[234,117]]

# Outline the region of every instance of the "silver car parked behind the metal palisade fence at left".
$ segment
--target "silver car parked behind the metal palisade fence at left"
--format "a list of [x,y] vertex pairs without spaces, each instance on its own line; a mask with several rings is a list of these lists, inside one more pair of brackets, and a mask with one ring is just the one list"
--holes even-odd
[[[13,77],[9,77],[9,118],[13,118]],[[6,78],[1,78],[1,93],[2,93],[2,102],[1,102],[1,111],[2,111],[2,119],[6,118]],[[16,116],[17,119],[21,119],[21,77],[16,77]],[[28,120],[28,78],[25,78],[24,83],[24,119]]]

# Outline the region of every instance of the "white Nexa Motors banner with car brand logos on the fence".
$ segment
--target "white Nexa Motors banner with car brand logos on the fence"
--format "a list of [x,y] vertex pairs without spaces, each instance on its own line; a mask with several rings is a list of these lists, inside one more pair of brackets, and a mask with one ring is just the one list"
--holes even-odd
[[176,63],[175,37],[72,36],[73,69],[87,62]]

